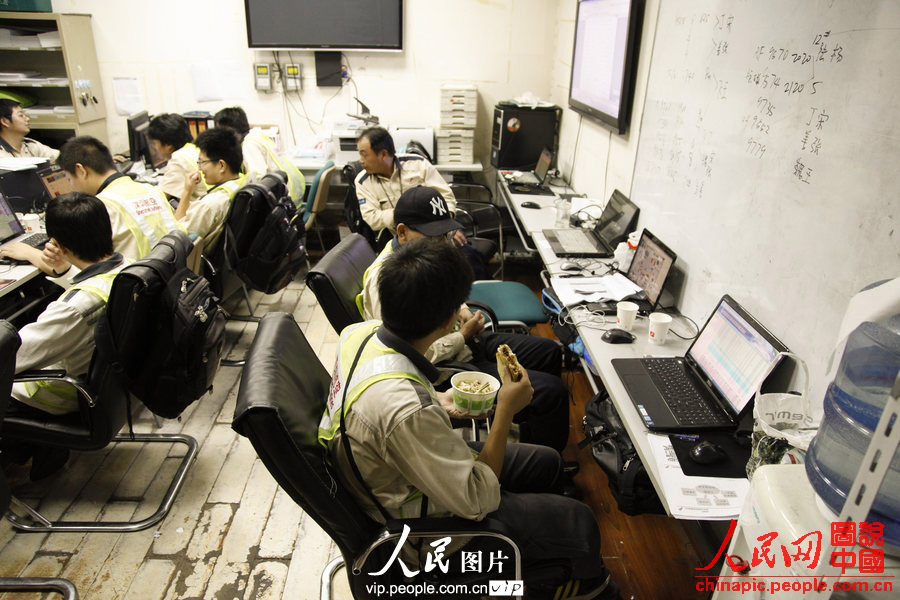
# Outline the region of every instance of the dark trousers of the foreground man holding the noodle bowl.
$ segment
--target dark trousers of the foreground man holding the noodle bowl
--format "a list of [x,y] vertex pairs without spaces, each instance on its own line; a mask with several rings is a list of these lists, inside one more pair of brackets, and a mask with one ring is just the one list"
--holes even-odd
[[[469,442],[469,446],[480,451],[484,443]],[[519,545],[526,586],[530,574],[547,574],[548,566],[557,577],[539,582],[543,586],[606,572],[594,513],[586,504],[558,495],[561,480],[558,452],[532,444],[507,445],[500,472],[500,506],[488,517],[508,527]]]

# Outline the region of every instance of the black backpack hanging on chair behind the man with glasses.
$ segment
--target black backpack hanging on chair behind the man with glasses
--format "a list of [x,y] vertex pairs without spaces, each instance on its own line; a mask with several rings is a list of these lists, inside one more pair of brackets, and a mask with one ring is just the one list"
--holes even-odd
[[[306,264],[306,229],[284,182],[278,171],[238,190],[211,252],[218,272],[230,265],[250,288],[265,294],[284,288]],[[224,283],[213,283],[224,294]]]

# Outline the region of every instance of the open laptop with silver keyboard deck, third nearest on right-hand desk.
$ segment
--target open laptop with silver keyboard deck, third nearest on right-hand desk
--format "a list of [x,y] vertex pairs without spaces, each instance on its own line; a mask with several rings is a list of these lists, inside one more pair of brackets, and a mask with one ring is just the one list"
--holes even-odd
[[638,212],[625,194],[615,190],[593,229],[544,229],[542,233],[560,258],[609,258],[634,231]]

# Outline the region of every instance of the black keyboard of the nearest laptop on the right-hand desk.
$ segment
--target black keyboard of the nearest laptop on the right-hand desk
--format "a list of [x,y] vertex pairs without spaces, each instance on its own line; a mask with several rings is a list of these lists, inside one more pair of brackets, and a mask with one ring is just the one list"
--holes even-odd
[[681,425],[728,425],[731,421],[713,410],[685,373],[684,363],[671,359],[641,361]]

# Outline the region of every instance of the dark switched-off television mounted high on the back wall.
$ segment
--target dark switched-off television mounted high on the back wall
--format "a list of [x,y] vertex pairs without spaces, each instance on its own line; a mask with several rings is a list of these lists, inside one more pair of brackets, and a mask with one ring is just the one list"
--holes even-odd
[[260,50],[403,49],[403,0],[244,0]]

